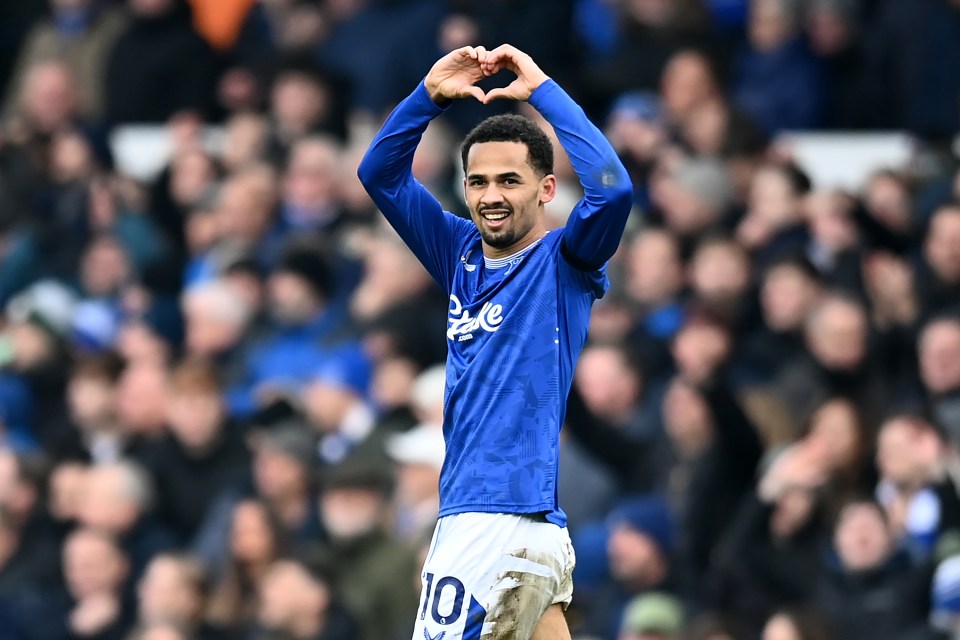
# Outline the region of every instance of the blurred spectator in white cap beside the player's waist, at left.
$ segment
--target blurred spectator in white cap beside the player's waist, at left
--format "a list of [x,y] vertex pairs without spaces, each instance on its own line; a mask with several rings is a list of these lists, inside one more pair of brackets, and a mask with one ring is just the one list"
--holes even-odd
[[420,424],[389,436],[386,445],[396,464],[393,530],[400,539],[416,543],[433,530],[440,512],[443,431],[437,424]]

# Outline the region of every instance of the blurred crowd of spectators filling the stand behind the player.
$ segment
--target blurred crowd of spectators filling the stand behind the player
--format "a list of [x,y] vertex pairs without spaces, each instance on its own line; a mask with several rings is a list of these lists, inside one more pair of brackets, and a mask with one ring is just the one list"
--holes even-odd
[[[355,170],[503,42],[636,187],[563,432],[574,637],[960,637],[960,2],[4,0],[0,639],[410,637],[448,305]],[[451,211],[511,108],[427,131]],[[839,190],[796,130],[915,153]]]

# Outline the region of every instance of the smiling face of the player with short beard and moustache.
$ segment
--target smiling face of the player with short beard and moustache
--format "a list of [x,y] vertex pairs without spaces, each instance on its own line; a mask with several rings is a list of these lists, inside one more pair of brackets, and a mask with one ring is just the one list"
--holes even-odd
[[543,205],[553,200],[557,181],[541,176],[522,142],[482,142],[470,147],[464,196],[483,238],[484,253],[508,256],[546,233]]

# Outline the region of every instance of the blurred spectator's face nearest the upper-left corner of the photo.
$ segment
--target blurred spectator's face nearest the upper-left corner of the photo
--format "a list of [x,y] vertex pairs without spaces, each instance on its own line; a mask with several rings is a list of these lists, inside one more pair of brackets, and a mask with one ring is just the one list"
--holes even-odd
[[59,62],[31,67],[21,96],[27,119],[41,133],[64,129],[76,115],[76,84],[67,66]]

